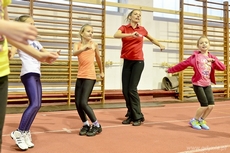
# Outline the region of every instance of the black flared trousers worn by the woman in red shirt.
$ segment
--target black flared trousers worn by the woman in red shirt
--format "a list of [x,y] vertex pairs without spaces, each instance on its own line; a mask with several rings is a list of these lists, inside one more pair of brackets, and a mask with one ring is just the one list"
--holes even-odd
[[128,115],[134,120],[143,118],[137,86],[144,69],[144,61],[124,60],[122,69],[122,92],[125,97]]

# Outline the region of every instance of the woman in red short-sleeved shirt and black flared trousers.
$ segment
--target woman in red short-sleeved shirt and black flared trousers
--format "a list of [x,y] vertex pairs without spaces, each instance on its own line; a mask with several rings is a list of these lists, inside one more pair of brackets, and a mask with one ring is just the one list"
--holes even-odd
[[128,109],[126,114],[128,118],[122,124],[133,122],[133,126],[139,126],[144,121],[137,92],[137,86],[144,69],[143,39],[146,37],[153,44],[159,46],[161,50],[165,48],[156,39],[152,38],[144,27],[139,25],[140,19],[140,10],[131,11],[127,16],[129,24],[122,25],[114,34],[115,38],[122,39],[121,58],[124,59],[122,92]]

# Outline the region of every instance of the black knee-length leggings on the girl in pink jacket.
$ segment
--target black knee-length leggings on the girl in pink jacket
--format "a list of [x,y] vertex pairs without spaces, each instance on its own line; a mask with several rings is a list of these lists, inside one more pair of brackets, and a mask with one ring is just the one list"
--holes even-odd
[[214,97],[211,86],[201,87],[193,85],[193,90],[196,93],[197,99],[200,102],[201,107],[214,105]]

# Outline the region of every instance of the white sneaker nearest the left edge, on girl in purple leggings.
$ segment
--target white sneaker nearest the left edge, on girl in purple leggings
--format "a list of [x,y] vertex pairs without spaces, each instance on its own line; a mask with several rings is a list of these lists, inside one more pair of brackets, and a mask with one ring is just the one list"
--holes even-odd
[[15,141],[16,145],[21,149],[21,150],[27,150],[28,146],[25,142],[24,136],[20,131],[13,131],[10,134],[11,138]]

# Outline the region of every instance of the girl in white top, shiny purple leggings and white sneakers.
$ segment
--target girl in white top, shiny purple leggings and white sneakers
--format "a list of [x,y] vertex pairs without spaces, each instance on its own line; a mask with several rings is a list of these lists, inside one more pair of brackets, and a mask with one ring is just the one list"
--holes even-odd
[[[17,18],[16,21],[34,25],[33,18],[28,15],[22,15]],[[28,44],[35,48],[38,52],[46,52],[42,45],[36,40],[28,41]],[[42,86],[40,80],[41,63],[25,52],[17,50],[15,47],[12,47],[11,49],[11,58],[13,58],[16,51],[18,51],[19,57],[22,61],[20,76],[29,99],[29,105],[22,115],[18,129],[11,133],[11,138],[14,139],[15,143],[21,150],[27,150],[28,148],[34,147],[30,134],[30,127],[41,107],[42,102]]]

